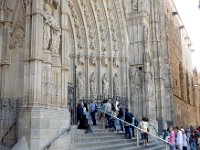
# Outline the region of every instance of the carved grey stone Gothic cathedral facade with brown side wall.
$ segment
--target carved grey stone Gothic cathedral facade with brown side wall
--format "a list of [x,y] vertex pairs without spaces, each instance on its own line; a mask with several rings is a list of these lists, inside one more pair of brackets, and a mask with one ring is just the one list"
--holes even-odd
[[121,97],[157,129],[196,126],[190,46],[171,0],[0,0],[1,101],[20,101],[15,135],[31,150],[69,126],[69,83],[77,102]]

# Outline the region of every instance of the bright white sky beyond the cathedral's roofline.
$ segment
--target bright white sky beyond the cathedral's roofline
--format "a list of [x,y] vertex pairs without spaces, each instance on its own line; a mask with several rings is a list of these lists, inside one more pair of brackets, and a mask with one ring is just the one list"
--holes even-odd
[[193,66],[200,72],[200,9],[199,0],[173,0],[192,42]]

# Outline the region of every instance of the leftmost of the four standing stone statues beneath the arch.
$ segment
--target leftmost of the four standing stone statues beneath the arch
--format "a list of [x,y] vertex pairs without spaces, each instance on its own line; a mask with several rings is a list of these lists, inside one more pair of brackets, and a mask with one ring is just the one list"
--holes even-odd
[[85,77],[81,71],[78,74],[77,80],[78,80],[78,96],[79,98],[83,98],[84,87],[85,87]]

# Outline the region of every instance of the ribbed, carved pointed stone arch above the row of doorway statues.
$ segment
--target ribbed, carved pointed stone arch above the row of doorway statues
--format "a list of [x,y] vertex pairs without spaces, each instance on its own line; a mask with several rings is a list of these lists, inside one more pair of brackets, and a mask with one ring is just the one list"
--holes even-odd
[[[112,83],[115,73],[121,75],[122,59],[126,57],[124,33],[127,32],[121,1],[74,0],[68,1],[68,5],[72,29],[70,34],[74,44],[70,52],[71,68],[77,65],[77,71],[82,71],[86,76],[86,89],[90,86],[89,75],[98,72],[97,93],[101,95],[100,81],[103,74],[108,72],[109,82]],[[112,95],[113,87],[110,85]],[[85,95],[89,96],[89,92],[86,91]]]

